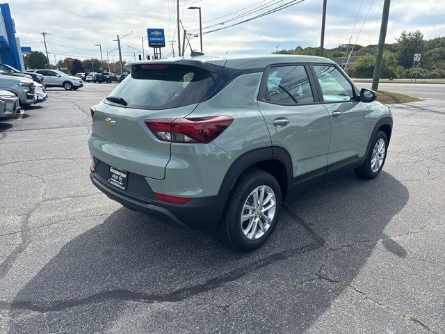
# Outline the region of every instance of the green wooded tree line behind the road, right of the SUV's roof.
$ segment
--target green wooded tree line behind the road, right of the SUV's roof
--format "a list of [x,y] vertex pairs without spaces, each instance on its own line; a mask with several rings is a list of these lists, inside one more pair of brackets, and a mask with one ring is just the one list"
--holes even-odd
[[[351,50],[358,56],[353,65],[346,67],[346,72],[354,78],[372,78],[377,55],[377,45],[339,45],[333,49],[323,49],[327,58],[348,57]],[[276,52],[273,52],[274,54]],[[293,50],[280,50],[278,54],[305,54],[318,56],[319,47],[300,46]],[[421,31],[403,31],[395,43],[385,44],[382,61],[382,78],[410,78],[413,72],[414,54],[421,54],[421,61],[416,64],[418,78],[445,78],[445,37],[423,39]]]

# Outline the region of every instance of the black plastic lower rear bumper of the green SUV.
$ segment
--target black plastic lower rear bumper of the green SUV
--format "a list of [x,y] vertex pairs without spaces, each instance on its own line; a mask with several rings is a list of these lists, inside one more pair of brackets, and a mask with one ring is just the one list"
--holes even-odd
[[[90,179],[97,189],[105,193],[108,198],[138,212],[144,212],[153,218],[170,225],[183,228],[211,229],[216,228],[223,214],[224,203],[218,196],[193,198],[186,204],[173,204],[150,197],[134,196],[127,191],[118,189],[109,184],[107,180],[92,171]],[[153,198],[152,198],[153,196]]]

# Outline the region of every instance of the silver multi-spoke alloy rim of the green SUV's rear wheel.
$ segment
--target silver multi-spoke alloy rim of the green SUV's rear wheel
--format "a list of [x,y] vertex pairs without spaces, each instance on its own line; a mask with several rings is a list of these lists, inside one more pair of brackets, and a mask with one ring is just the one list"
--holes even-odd
[[249,240],[261,238],[272,225],[277,207],[275,193],[269,186],[258,186],[245,200],[241,212],[241,230]]

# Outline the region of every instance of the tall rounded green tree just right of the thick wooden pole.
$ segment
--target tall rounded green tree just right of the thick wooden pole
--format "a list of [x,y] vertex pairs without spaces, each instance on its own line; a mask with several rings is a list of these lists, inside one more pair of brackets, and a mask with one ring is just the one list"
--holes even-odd
[[398,63],[405,68],[411,67],[414,54],[421,54],[424,45],[423,33],[419,30],[409,33],[403,31],[401,37],[397,38]]

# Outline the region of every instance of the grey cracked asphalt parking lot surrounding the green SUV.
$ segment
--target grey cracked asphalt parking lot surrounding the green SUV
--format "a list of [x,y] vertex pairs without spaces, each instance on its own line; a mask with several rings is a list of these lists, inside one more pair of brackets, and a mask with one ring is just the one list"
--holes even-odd
[[0,123],[0,333],[445,333],[444,100],[392,106],[377,179],[291,196],[240,254],[92,186],[89,109],[114,86]]

